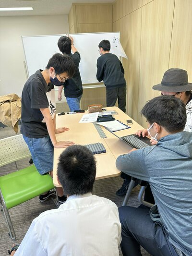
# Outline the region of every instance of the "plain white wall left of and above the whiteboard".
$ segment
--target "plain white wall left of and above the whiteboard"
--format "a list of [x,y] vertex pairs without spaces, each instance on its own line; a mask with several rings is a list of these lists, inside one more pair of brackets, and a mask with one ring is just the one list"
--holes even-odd
[[21,97],[27,79],[22,36],[68,32],[67,15],[0,17],[0,96],[16,93]]

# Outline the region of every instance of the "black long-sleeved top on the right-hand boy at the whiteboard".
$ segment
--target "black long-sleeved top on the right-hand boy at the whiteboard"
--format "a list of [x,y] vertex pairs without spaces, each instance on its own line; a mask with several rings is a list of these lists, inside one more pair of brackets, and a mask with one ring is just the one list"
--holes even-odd
[[122,63],[115,54],[105,53],[97,59],[96,79],[103,80],[107,89],[126,86]]

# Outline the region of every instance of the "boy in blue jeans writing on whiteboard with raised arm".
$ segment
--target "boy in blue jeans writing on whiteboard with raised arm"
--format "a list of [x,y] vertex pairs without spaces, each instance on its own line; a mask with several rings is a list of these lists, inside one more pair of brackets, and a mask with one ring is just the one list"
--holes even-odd
[[[61,92],[64,87],[64,95],[67,99],[70,111],[80,110],[80,100],[83,95],[83,87],[81,81],[81,75],[79,73],[79,62],[81,61],[80,53],[74,47],[73,38],[60,37],[58,41],[58,47],[63,54],[67,54],[72,58],[75,64],[75,73],[72,78],[65,81],[64,86],[59,87],[58,100],[61,100]],[[73,54],[71,53],[71,50]]]

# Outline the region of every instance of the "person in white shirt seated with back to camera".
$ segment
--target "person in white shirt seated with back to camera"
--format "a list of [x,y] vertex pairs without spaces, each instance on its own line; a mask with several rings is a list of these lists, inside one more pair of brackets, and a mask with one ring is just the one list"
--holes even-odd
[[66,203],[34,219],[11,255],[119,256],[118,207],[91,194],[96,178],[93,153],[85,146],[69,146],[60,155],[57,174]]

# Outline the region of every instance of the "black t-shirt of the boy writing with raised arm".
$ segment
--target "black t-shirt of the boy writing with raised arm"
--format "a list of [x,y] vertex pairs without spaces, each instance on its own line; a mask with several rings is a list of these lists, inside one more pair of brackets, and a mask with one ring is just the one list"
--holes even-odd
[[64,95],[69,98],[78,98],[83,94],[81,75],[79,73],[79,62],[81,61],[81,56],[78,51],[74,54],[69,53],[67,55],[74,61],[75,73],[72,78],[65,81],[63,85]]

